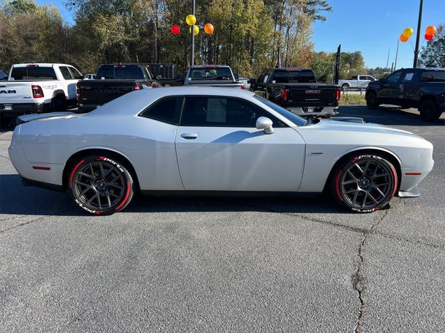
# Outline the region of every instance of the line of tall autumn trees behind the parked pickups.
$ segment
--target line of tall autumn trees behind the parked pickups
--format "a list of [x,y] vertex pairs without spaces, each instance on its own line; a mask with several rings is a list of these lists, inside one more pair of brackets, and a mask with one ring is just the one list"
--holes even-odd
[[[54,6],[32,0],[0,0],[0,67],[17,62],[65,62],[94,73],[104,62],[161,62],[189,65],[190,33],[185,22],[191,1],[67,0],[67,24]],[[325,20],[326,0],[197,0],[196,64],[227,64],[256,77],[275,67],[311,67],[332,80],[334,53],[315,52],[312,23]],[[202,31],[215,26],[212,35]],[[170,27],[178,24],[181,33]],[[341,78],[365,73],[362,54],[341,53]]]

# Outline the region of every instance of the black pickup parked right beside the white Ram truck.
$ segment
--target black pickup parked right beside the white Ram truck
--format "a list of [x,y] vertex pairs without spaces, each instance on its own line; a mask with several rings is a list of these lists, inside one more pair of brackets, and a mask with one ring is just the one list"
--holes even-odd
[[77,83],[77,101],[80,112],[87,112],[138,89],[161,87],[143,64],[100,65],[95,80]]

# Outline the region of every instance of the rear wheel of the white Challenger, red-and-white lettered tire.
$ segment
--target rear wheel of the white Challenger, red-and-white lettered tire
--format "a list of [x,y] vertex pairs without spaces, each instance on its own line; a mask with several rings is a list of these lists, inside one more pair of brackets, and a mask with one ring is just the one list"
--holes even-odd
[[96,215],[120,212],[134,193],[131,173],[116,157],[81,157],[73,163],[69,185],[74,202]]

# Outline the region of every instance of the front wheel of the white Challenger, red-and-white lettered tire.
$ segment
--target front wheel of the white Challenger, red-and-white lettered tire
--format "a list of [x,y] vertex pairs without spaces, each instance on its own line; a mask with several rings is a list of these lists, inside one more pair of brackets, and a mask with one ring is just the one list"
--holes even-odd
[[396,194],[396,168],[385,157],[356,155],[340,163],[332,173],[330,192],[337,203],[360,213],[385,207]]

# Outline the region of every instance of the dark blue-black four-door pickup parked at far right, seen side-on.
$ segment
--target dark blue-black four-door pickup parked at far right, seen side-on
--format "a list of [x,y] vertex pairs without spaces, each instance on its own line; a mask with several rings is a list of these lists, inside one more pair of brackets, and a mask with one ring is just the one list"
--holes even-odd
[[377,109],[380,104],[418,108],[422,119],[439,119],[445,111],[445,68],[399,69],[371,81],[366,89],[366,105]]

